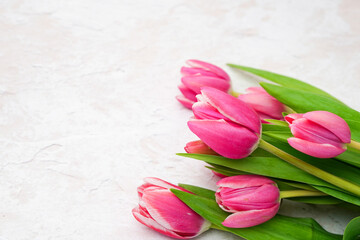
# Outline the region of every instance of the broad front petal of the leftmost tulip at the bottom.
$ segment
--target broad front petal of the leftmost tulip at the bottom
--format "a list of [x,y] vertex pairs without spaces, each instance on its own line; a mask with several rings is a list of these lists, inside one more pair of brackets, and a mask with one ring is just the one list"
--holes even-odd
[[170,231],[196,235],[202,229],[205,220],[167,189],[145,190],[142,200],[151,217]]

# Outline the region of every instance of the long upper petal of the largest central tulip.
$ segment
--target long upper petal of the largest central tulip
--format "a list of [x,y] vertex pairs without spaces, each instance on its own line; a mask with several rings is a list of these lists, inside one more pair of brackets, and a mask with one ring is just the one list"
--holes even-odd
[[255,110],[245,102],[214,88],[204,87],[201,89],[201,93],[203,99],[215,107],[222,115],[260,134],[260,118]]

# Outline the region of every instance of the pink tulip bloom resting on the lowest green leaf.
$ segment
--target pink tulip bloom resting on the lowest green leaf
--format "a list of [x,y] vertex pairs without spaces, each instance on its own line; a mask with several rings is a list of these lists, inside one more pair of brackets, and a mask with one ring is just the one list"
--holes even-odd
[[217,182],[216,202],[229,215],[225,227],[246,228],[274,217],[280,207],[280,191],[275,182],[257,175],[240,175]]

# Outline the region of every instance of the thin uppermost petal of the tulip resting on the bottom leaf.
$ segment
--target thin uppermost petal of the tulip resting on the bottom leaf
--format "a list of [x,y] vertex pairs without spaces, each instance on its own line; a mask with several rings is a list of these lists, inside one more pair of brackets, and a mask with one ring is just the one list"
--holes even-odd
[[275,182],[259,175],[239,175],[221,179],[216,183],[219,187],[228,188],[259,187],[264,184],[275,184]]

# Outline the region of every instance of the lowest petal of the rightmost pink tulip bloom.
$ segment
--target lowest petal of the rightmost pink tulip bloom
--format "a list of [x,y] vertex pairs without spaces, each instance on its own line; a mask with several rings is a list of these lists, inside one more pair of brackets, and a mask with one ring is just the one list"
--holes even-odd
[[314,143],[300,138],[288,138],[290,146],[307,155],[317,158],[332,158],[345,152],[346,149],[326,143]]

